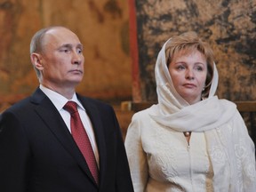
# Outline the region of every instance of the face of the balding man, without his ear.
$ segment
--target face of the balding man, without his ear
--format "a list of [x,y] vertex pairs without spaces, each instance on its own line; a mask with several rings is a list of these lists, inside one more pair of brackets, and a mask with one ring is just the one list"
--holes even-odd
[[75,88],[84,76],[83,45],[67,28],[53,28],[44,35],[41,64],[42,84],[53,90]]

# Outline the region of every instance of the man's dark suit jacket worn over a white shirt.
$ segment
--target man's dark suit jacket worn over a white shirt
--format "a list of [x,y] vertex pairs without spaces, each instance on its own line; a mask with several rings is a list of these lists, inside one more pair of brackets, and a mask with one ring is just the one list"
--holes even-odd
[[37,89],[0,121],[1,192],[131,192],[132,180],[116,115],[77,95],[91,118],[100,154],[100,186],[52,101]]

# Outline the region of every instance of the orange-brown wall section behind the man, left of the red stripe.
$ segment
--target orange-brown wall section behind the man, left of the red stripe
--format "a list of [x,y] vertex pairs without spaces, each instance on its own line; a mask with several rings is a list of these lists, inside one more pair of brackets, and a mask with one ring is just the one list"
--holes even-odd
[[124,0],[0,0],[0,105],[30,95],[38,81],[29,59],[35,32],[61,25],[84,44],[77,91],[102,100],[132,94],[128,3]]

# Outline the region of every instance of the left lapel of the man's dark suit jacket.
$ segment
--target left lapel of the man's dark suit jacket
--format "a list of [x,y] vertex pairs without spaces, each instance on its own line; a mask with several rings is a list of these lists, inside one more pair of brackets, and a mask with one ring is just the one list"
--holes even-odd
[[[41,116],[44,124],[51,130],[56,139],[60,141],[63,148],[66,148],[70,156],[73,156],[74,159],[76,159],[77,164],[79,164],[92,182],[95,183],[89,167],[84,160],[84,156],[77,148],[75,140],[73,140],[72,135],[68,131],[68,127],[64,123],[57,108],[52,104],[52,101],[49,100],[40,89],[36,90],[31,101],[37,104],[35,108],[36,113],[38,116]],[[52,116],[54,116],[54,118],[52,118]]]

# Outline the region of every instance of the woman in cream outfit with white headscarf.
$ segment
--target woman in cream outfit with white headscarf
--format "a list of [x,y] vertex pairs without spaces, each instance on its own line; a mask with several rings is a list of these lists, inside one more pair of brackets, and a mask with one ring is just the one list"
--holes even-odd
[[158,104],[132,116],[125,138],[135,192],[255,192],[254,144],[236,105],[214,96],[209,44],[173,36],[155,72]]

